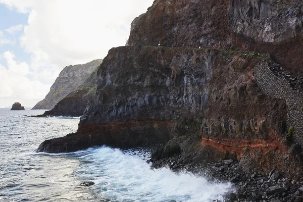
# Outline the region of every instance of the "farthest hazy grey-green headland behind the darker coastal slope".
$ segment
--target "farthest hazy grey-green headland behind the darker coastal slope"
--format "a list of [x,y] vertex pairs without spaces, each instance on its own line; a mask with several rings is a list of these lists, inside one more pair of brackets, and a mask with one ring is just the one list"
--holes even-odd
[[76,90],[101,63],[102,60],[93,60],[83,65],[65,67],[52,85],[51,90],[43,100],[33,107],[33,110],[53,109],[60,100]]

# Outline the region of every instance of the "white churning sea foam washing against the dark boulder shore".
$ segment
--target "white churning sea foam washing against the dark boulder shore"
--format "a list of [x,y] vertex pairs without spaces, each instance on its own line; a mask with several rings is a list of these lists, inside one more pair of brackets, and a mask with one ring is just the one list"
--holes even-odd
[[231,187],[166,168],[150,170],[140,157],[109,147],[95,149],[80,160],[83,164],[76,173],[95,183],[91,188],[97,195],[114,201],[204,202],[222,199]]

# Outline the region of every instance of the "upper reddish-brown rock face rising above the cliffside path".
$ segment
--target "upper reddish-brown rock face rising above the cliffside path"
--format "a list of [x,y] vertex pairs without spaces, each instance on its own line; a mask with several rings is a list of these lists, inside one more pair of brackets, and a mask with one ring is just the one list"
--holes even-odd
[[302,57],[293,57],[303,52],[302,8],[300,0],[156,0],[132,23],[128,44],[160,40],[172,47],[277,54],[286,68],[303,71]]

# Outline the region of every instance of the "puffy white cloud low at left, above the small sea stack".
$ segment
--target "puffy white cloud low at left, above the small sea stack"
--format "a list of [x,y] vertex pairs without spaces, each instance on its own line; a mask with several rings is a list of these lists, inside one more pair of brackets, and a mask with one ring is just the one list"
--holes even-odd
[[10,106],[14,102],[33,106],[33,100],[41,100],[51,86],[29,80],[28,64],[15,61],[12,52],[5,52],[3,58],[6,65],[0,65],[0,107]]

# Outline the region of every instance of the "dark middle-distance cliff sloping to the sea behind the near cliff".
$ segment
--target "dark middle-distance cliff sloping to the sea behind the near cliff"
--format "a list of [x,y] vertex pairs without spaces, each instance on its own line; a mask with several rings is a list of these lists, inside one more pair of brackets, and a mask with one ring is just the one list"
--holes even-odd
[[95,97],[97,69],[98,68],[96,68],[79,87],[60,100],[52,110],[46,111],[43,115],[35,117],[82,116],[89,100]]

